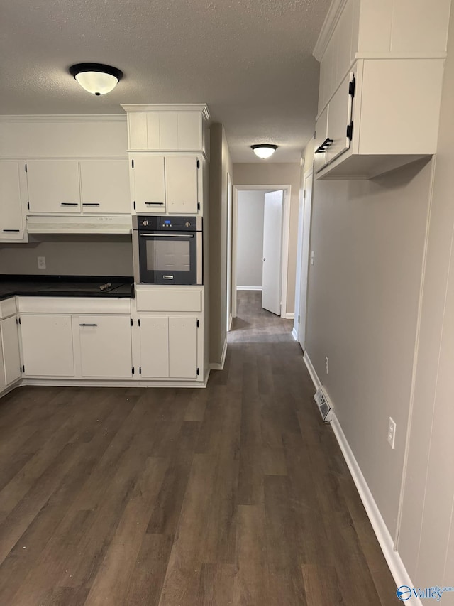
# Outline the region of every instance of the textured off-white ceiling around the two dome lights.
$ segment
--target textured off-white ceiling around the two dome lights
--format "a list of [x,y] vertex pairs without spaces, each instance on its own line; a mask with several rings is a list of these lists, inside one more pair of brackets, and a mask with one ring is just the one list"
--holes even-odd
[[[275,143],[299,161],[314,131],[311,56],[330,0],[14,0],[1,6],[0,114],[115,114],[121,103],[207,103],[233,161]],[[68,74],[108,63],[103,97]]]

